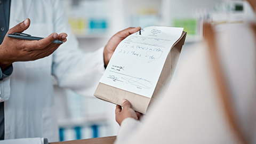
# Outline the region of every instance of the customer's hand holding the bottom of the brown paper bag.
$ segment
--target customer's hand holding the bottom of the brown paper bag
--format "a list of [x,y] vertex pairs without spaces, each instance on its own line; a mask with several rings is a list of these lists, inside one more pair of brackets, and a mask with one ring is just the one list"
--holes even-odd
[[121,106],[116,105],[116,122],[121,125],[121,123],[124,121],[125,118],[131,117],[136,120],[139,120],[142,116],[141,113],[134,111],[131,108],[131,104],[129,101],[123,99],[123,109]]

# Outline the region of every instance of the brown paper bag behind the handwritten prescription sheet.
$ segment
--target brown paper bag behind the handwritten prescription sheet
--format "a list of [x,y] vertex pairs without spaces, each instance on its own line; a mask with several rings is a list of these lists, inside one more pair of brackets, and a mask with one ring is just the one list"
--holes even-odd
[[183,31],[178,41],[173,44],[172,49],[165,60],[164,67],[162,69],[161,75],[158,79],[155,91],[151,99],[103,83],[99,83],[97,90],[94,93],[94,96],[101,100],[109,101],[120,106],[122,106],[122,99],[129,100],[131,103],[131,107],[135,111],[139,111],[140,113],[145,114],[148,109],[149,103],[154,102],[155,99],[161,96],[159,95],[159,93],[163,89],[163,86],[170,82],[175,67],[177,65],[182,46],[185,42],[186,35],[187,33]]

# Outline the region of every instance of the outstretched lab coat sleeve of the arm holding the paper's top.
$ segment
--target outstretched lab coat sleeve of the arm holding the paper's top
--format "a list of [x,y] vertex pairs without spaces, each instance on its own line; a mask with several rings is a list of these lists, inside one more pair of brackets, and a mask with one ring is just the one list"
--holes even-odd
[[78,49],[78,41],[71,33],[60,1],[52,1],[55,10],[54,30],[58,34],[67,33],[67,42],[53,53],[52,74],[61,87],[74,90],[82,95],[93,95],[104,73],[103,47],[85,53]]

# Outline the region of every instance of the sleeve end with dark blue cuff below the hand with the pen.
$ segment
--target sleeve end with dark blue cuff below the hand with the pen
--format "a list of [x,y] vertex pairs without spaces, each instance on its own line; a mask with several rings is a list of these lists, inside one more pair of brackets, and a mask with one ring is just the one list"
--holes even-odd
[[10,75],[13,72],[13,66],[5,70],[0,69],[0,102],[7,101],[10,97]]

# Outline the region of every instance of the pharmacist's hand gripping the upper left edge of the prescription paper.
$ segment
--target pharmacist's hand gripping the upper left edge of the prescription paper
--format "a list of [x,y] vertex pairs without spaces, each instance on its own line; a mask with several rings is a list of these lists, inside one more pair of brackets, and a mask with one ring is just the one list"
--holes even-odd
[[111,37],[105,46],[104,52],[103,52],[103,57],[104,57],[104,64],[105,66],[108,65],[108,62],[110,58],[112,57],[114,51],[116,50],[117,45],[123,41],[124,38],[127,36],[136,33],[139,31],[141,28],[140,27],[130,27],[127,29],[124,29],[122,31],[119,31],[116,33],[113,37]]

